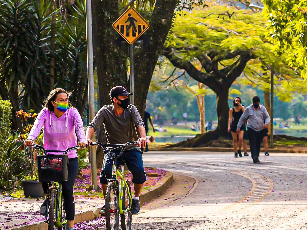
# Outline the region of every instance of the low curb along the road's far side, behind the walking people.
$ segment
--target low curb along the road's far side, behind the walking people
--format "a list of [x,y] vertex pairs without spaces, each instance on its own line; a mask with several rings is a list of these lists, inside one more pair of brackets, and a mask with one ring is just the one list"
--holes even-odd
[[[195,147],[195,148],[151,148],[150,151],[202,151],[202,152],[233,152],[233,148],[215,148],[215,147]],[[250,149],[247,149],[250,152]],[[261,152],[264,152],[263,149]],[[268,152],[285,152],[285,153],[307,153],[304,149],[273,149],[269,148]]]

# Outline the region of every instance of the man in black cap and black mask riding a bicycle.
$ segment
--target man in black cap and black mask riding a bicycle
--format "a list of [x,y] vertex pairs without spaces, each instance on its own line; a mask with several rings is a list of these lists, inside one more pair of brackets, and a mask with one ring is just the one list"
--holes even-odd
[[[91,136],[101,125],[104,126],[107,136],[107,144],[125,144],[137,140],[137,146],[133,146],[124,151],[121,158],[125,160],[129,171],[133,175],[134,196],[132,197],[131,214],[137,215],[140,212],[139,195],[144,182],[146,182],[146,172],[144,172],[141,147],[146,145],[145,125],[135,105],[129,104],[128,93],[122,86],[115,86],[110,90],[111,105],[103,106],[93,121],[87,126],[87,144],[92,143]],[[140,138],[138,134],[140,133]],[[117,150],[114,150],[117,153]],[[103,196],[106,197],[107,178],[112,177],[113,160],[105,155],[103,159],[100,182],[102,184]],[[116,162],[117,166],[119,162]],[[100,214],[105,215],[105,205],[100,209]]]

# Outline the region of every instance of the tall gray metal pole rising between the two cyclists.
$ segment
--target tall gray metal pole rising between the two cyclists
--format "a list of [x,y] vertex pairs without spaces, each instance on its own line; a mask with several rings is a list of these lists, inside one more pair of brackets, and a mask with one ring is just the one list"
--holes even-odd
[[[93,37],[92,37],[92,6],[91,0],[86,0],[86,41],[87,41],[87,86],[88,86],[88,109],[90,121],[95,116],[95,95],[94,95],[94,67],[93,67]],[[96,141],[95,133],[92,141]],[[97,190],[97,166],[96,148],[89,148],[91,153],[91,182],[92,189]]]

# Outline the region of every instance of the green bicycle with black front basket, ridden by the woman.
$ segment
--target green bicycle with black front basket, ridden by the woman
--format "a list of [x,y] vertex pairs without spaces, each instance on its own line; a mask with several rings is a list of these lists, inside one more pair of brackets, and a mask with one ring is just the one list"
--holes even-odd
[[[68,156],[67,152],[84,147],[71,147],[65,151],[45,149],[34,144],[27,148],[41,149],[45,155],[37,156],[37,172],[39,182],[48,182],[49,189],[46,197],[45,223],[48,230],[67,230],[67,220],[63,206],[61,181],[67,181]],[[47,152],[60,152],[63,154],[47,155]],[[48,211],[49,210],[49,211]]]

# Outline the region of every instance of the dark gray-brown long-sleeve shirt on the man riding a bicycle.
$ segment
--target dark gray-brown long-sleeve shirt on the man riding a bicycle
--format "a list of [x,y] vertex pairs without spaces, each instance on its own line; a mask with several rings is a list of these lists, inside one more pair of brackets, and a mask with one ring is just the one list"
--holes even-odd
[[119,116],[114,113],[113,109],[113,105],[103,106],[87,127],[93,128],[94,131],[98,127],[104,127],[107,144],[125,144],[138,140],[136,128],[145,127],[145,125],[135,105],[129,104]]

